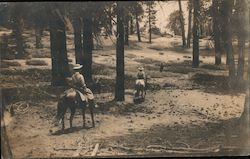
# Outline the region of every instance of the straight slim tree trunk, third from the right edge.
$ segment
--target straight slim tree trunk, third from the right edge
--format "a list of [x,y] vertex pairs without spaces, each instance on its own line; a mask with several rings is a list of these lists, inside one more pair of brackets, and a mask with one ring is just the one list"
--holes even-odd
[[219,12],[218,1],[213,0],[213,30],[214,30],[214,50],[215,50],[215,64],[221,64],[221,46],[220,46],[220,28],[219,28]]

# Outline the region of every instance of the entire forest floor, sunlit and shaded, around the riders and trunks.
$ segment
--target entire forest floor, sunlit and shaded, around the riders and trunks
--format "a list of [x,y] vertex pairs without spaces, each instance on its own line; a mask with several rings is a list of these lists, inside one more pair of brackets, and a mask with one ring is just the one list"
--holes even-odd
[[[115,45],[103,39],[103,48],[93,51],[94,78],[100,78],[101,93],[94,90],[99,105],[95,109],[96,127],[82,128],[80,112],[66,132],[51,124],[56,114],[57,96],[66,88],[50,86],[51,59],[49,35],[43,49],[34,48],[34,34],[25,32],[29,59],[1,61],[0,85],[6,108],[4,123],[14,158],[91,156],[211,156],[249,154],[241,149],[238,118],[245,103],[244,87],[230,91],[224,63],[215,66],[209,41],[201,39],[201,65],[191,67],[192,49],[181,47],[180,37],[154,36],[138,43],[130,37],[125,47],[125,101],[115,102]],[[73,35],[68,36],[68,55],[74,63]],[[45,65],[27,65],[29,60]],[[43,63],[44,63],[43,62]],[[159,71],[159,65],[165,64]],[[133,103],[137,67],[149,75],[146,100]],[[88,112],[87,112],[88,113]],[[247,139],[246,139],[247,140]],[[229,150],[230,149],[230,150]],[[249,149],[248,149],[249,150]]]

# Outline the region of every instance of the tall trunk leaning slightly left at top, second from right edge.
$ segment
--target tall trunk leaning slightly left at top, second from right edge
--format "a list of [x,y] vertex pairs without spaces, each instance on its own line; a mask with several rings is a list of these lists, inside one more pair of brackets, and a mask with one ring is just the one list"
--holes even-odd
[[233,46],[232,46],[232,7],[233,7],[233,0],[224,0],[224,29],[225,29],[225,49],[228,55],[228,64],[229,64],[229,86],[233,86],[235,82],[235,62],[234,62],[234,55],[233,55]]

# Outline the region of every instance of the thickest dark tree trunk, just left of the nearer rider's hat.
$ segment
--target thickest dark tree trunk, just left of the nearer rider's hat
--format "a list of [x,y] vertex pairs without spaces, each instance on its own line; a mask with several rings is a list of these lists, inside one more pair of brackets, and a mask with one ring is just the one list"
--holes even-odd
[[52,60],[53,86],[66,85],[66,77],[70,75],[64,20],[58,15],[59,11],[50,14],[50,48]]

